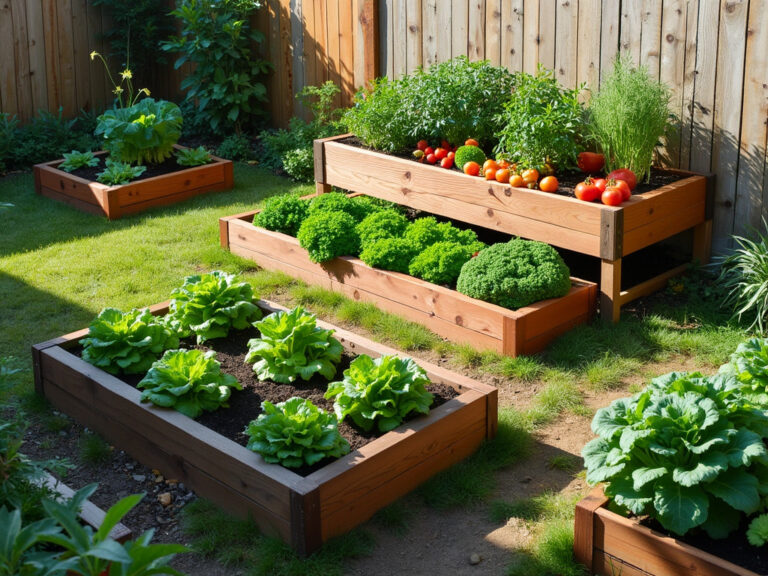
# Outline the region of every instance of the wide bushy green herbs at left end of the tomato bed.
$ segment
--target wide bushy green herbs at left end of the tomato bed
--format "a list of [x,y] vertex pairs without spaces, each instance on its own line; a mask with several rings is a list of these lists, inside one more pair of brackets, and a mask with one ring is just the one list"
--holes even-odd
[[514,85],[506,68],[459,56],[398,80],[375,80],[344,120],[367,145],[388,152],[404,152],[422,138],[489,144],[499,129],[494,111]]

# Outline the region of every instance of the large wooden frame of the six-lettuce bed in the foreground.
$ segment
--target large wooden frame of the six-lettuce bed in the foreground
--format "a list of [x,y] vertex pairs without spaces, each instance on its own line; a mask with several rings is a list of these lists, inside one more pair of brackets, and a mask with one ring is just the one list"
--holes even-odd
[[[265,312],[285,310],[260,301]],[[150,308],[167,311],[167,303]],[[351,353],[373,356],[395,350],[325,322]],[[301,477],[174,410],[139,401],[141,392],[68,350],[80,330],[32,347],[35,389],[57,409],[166,477],[239,516],[250,516],[266,534],[312,552],[440,470],[463,460],[496,434],[497,390],[427,362],[434,382],[460,394],[373,442]]]

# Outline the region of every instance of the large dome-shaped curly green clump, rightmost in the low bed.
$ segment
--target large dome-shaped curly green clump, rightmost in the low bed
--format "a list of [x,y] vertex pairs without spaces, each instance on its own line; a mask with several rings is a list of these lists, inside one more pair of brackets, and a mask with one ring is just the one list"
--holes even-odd
[[505,308],[565,296],[570,272],[557,251],[543,242],[516,238],[494,244],[461,269],[456,290]]

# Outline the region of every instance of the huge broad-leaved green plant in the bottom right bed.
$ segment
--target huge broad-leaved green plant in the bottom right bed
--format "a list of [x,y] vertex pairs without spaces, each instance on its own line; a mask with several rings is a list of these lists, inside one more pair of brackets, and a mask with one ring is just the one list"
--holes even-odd
[[768,415],[726,375],[670,373],[597,411],[587,481],[635,514],[724,538],[768,491]]

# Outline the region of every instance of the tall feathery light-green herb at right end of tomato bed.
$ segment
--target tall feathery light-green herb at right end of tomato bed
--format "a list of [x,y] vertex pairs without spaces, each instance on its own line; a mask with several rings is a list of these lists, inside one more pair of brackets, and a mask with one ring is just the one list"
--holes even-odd
[[589,131],[605,155],[605,170],[629,168],[641,182],[650,176],[653,151],[669,127],[671,92],[619,56],[589,101]]

